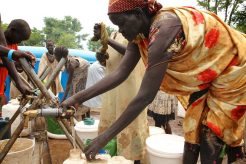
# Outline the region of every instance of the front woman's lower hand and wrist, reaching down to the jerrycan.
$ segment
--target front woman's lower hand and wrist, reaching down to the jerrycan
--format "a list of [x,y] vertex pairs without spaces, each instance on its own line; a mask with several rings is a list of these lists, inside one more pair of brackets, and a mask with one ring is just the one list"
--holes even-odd
[[104,134],[96,137],[92,140],[91,144],[85,148],[85,156],[87,160],[95,159],[95,156],[98,154],[99,150],[102,149],[108,143],[108,138]]

